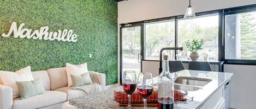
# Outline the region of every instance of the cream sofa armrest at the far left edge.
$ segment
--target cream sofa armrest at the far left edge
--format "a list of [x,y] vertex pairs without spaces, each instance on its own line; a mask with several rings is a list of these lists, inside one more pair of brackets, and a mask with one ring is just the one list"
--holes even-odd
[[13,106],[13,89],[0,85],[0,108],[11,109]]

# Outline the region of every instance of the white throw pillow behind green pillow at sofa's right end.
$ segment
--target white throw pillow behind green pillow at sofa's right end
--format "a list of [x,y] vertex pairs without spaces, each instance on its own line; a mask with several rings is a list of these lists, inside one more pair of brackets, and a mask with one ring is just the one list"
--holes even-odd
[[67,76],[68,76],[68,87],[71,87],[72,79],[70,77],[70,74],[73,75],[81,75],[88,72],[87,69],[87,63],[83,63],[81,65],[72,65],[70,63],[66,63],[66,70],[67,70]]

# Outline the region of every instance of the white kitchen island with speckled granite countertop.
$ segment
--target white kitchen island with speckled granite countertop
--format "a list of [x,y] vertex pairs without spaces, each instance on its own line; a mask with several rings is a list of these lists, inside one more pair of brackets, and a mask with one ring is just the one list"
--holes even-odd
[[[187,100],[186,102],[175,102],[175,108],[224,108],[224,86],[228,81],[230,81],[233,73],[181,70],[180,72],[171,74],[175,79],[182,79],[176,84],[175,89],[186,89],[188,91],[188,97],[193,97],[193,100]],[[157,82],[157,78],[154,78],[154,82]],[[204,84],[204,82],[206,82],[206,84]],[[194,87],[191,84],[197,86]],[[81,109],[123,108],[114,101],[113,95],[114,91],[121,89],[121,87],[115,87],[95,94],[73,98],[69,100],[69,104]]]

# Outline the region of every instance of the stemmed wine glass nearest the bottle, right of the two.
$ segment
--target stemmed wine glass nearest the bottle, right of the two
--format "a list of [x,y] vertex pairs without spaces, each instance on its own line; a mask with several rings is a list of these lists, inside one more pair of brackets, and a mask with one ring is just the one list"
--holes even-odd
[[144,101],[144,109],[147,108],[147,98],[153,92],[153,78],[151,73],[140,73],[137,80],[137,92]]

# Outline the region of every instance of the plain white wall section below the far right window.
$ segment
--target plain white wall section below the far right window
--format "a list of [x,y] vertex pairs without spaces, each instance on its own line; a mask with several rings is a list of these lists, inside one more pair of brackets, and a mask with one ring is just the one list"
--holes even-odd
[[234,73],[231,79],[231,107],[256,108],[256,66],[224,65],[224,72]]

